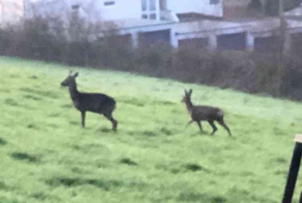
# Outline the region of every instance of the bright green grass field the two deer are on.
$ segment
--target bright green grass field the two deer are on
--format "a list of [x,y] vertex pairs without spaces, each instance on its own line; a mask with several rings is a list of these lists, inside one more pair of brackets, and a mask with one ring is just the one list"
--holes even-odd
[[[302,105],[115,71],[79,71],[78,88],[117,100],[118,132],[80,113],[59,83],[68,67],[0,58],[0,202],[280,202]],[[180,103],[220,106],[214,136]],[[302,186],[298,179],[297,188]],[[298,198],[296,190],[295,201]]]

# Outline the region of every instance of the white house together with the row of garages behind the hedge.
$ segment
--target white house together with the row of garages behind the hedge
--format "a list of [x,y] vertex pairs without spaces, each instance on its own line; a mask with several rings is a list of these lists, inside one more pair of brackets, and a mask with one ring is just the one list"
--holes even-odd
[[[263,33],[262,29],[278,27],[275,18],[222,21],[223,0],[38,0],[26,13],[63,18],[68,18],[67,13],[81,15],[105,25],[100,35],[111,31],[112,27],[106,25],[113,22],[115,33],[133,46],[144,39],[150,44],[166,42],[174,47],[253,50],[262,47],[267,39],[264,37],[274,34],[273,31]],[[199,19],[192,20],[192,16]],[[218,19],[204,19],[204,16]],[[290,25],[291,30],[299,32],[296,27],[302,23],[295,21]]]

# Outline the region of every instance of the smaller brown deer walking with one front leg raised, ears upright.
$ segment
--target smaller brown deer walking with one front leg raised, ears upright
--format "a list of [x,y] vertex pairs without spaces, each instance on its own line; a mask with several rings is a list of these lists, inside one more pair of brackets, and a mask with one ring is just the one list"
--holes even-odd
[[195,106],[191,102],[191,94],[192,89],[190,89],[189,91],[185,90],[185,96],[182,99],[182,102],[185,103],[192,119],[188,122],[186,127],[188,127],[188,125],[193,122],[197,122],[201,132],[203,132],[201,121],[207,121],[213,128],[213,132],[211,133],[211,135],[214,135],[214,133],[217,131],[217,127],[214,124],[214,121],[217,121],[220,125],[223,126],[223,128],[227,130],[227,132],[231,136],[232,134],[230,128],[223,121],[223,111],[220,108],[214,106]]

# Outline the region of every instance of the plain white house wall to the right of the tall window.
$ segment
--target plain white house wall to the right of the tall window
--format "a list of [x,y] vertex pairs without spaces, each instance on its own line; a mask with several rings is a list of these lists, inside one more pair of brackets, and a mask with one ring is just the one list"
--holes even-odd
[[201,13],[206,15],[223,16],[223,0],[218,4],[211,4],[210,0],[167,0],[168,10],[175,13]]

